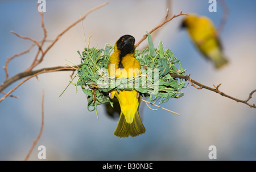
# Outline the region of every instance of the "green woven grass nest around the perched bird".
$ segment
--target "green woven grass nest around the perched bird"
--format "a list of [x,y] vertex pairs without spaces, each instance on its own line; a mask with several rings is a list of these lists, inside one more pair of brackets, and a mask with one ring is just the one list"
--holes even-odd
[[[113,102],[108,94],[112,89],[117,89],[117,91],[136,89],[144,97],[150,97],[150,101],[159,98],[159,104],[167,102],[170,98],[179,98],[184,95],[180,91],[185,88],[183,80],[174,79],[170,75],[170,73],[185,75],[180,61],[174,57],[170,49],[163,50],[162,42],[159,42],[158,49],[154,48],[150,34],[147,33],[147,35],[148,48],[141,52],[135,50],[135,58],[141,64],[142,74],[133,78],[109,77],[106,68],[114,49],[113,45],[106,45],[105,49],[85,48],[82,53],[77,51],[81,58],[81,65],[76,74],[79,79],[73,83],[75,76],[69,82],[76,86],[80,85],[82,91],[87,95],[89,111],[95,110],[97,105],[104,103],[110,103],[113,107]],[[157,72],[155,69],[158,69],[158,75],[155,75]],[[115,83],[114,88],[111,85],[113,83]]]

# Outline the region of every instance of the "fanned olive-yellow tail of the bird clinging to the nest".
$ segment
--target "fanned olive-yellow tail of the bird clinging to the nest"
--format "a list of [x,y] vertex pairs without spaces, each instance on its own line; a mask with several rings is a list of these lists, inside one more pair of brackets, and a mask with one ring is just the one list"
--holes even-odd
[[121,112],[114,135],[118,137],[135,137],[145,133],[145,131],[138,110],[135,112],[133,122],[131,123],[126,122],[125,115]]

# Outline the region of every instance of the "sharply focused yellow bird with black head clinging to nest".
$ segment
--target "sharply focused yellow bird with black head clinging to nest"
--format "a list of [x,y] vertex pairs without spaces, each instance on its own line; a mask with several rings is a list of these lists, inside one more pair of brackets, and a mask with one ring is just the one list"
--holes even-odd
[[[124,35],[115,42],[114,52],[110,55],[108,72],[110,76],[129,78],[141,74],[141,65],[134,57],[135,38]],[[133,70],[135,72],[129,72]],[[121,114],[114,135],[118,137],[138,136],[146,130],[139,117],[141,95],[135,89],[109,92],[109,97],[117,97]]]

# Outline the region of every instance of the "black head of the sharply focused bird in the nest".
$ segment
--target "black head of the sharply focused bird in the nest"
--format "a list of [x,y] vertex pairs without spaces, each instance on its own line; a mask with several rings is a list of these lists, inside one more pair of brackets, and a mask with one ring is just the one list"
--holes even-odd
[[117,40],[117,49],[121,51],[123,55],[134,53],[135,38],[131,35],[123,35]]

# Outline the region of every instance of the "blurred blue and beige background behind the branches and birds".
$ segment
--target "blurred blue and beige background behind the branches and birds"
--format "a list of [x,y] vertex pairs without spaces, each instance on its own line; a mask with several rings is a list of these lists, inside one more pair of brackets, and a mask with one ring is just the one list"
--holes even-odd
[[[35,40],[43,38],[37,1],[0,1],[0,65],[7,57],[27,50],[31,41],[16,37],[10,31]],[[46,1],[44,23],[48,40],[93,7],[105,1]],[[208,16],[218,26],[223,14],[217,2],[217,12],[209,12],[208,1],[117,1],[90,13],[48,51],[43,62],[35,69],[64,66],[68,59],[80,63],[77,50],[82,51],[85,40],[90,46],[104,48],[122,35],[133,35],[139,41],[163,21],[167,6],[170,15],[183,12]],[[179,16],[159,29],[154,44],[159,41],[180,59],[185,74],[202,84],[213,87],[222,83],[220,91],[246,100],[256,88],[256,1],[226,1],[229,16],[221,32],[224,54],[229,64],[215,70],[205,60],[188,37],[179,28],[184,16]],[[48,46],[46,43],[44,48]],[[144,48],[144,41],[139,49]],[[17,57],[9,63],[9,75],[14,76],[31,65],[37,49]],[[85,94],[70,85],[71,71],[39,75],[16,89],[19,99],[7,97],[0,103],[0,160],[24,160],[32,140],[39,134],[41,124],[42,89],[44,89],[44,128],[29,160],[38,159],[38,147],[46,147],[46,160],[209,160],[209,146],[217,148],[217,160],[256,160],[256,111],[249,106],[222,97],[220,94],[194,87],[183,89],[184,96],[172,98],[163,108],[176,111],[177,116],[159,109],[153,111],[144,102],[141,118],[146,133],[137,137],[119,138],[113,132],[118,118],[106,114],[104,106],[87,110]],[[0,70],[0,83],[5,72]],[[21,80],[4,91],[9,92]],[[1,94],[1,97],[3,94]],[[250,100],[256,102],[256,96]],[[155,109],[153,106],[152,108]]]

